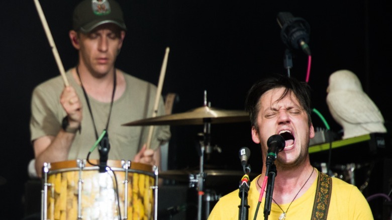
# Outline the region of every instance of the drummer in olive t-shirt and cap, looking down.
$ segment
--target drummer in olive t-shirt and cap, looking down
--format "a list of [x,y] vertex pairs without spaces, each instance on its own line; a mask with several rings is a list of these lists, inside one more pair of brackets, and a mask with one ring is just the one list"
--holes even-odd
[[[146,147],[148,128],[122,126],[151,117],[157,95],[155,85],[115,67],[126,30],[114,0],[84,0],[74,9],[69,38],[78,59],[66,72],[69,86],[57,76],[32,94],[30,131],[38,176],[44,162],[86,159],[90,151],[89,159],[99,159],[93,146],[104,130],[110,160],[159,165],[159,146],[169,140],[169,127],[156,126]],[[163,114],[161,98],[157,116]]]

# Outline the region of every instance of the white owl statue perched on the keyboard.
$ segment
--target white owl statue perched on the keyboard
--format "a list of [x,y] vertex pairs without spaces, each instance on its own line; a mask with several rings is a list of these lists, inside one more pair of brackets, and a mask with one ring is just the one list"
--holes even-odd
[[378,107],[362,90],[358,77],[339,70],[329,77],[327,104],[335,121],[343,128],[343,139],[370,133],[386,133]]

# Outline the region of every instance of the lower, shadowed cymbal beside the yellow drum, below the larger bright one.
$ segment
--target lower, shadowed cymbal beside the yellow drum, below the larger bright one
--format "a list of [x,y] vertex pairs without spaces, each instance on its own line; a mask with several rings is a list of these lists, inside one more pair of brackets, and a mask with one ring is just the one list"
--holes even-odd
[[[158,177],[180,182],[189,182],[189,175],[197,175],[199,172],[200,171],[198,170],[166,170],[159,172]],[[237,170],[204,170],[204,173],[206,173],[205,183],[208,186],[216,186],[228,182],[237,184],[244,175],[243,171]],[[255,173],[249,174],[250,179],[253,179],[256,176]]]

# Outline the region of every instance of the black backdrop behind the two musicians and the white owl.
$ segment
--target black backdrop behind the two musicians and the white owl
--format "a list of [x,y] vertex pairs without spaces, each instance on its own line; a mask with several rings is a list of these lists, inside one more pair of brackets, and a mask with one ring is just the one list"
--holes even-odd
[[[203,105],[204,90],[213,107],[243,109],[252,83],[271,73],[285,73],[276,22],[278,12],[291,12],[311,27],[313,105],[333,131],[341,128],[325,102],[329,75],[349,69],[380,108],[386,121],[390,75],[391,14],[386,1],[119,1],[127,32],[117,67],[158,83],[165,47],[170,54],[162,94],[175,92],[173,113]],[[68,39],[77,1],[40,1],[63,66],[76,63]],[[40,82],[59,74],[34,1],[2,1],[0,73],[2,74],[2,153],[0,186],[2,218],[23,216],[27,164],[34,157],[29,141],[30,98]],[[305,80],[307,57],[293,54],[291,76]],[[314,116],[315,127],[324,127]],[[127,122],[127,119],[124,119]],[[172,127],[170,168],[197,167],[194,140],[202,126]],[[247,122],[213,125],[212,144],[222,148],[206,162],[212,168],[239,169],[238,150],[252,151],[252,170],[261,170],[259,149]],[[210,166],[209,166],[210,167]],[[8,219],[5,218],[5,219]]]

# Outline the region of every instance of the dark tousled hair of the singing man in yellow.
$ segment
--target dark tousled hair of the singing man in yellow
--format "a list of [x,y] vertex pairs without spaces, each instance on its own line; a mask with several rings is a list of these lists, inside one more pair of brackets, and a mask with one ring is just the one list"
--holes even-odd
[[252,126],[257,128],[257,114],[260,108],[259,100],[261,95],[270,89],[281,87],[285,88],[285,90],[278,100],[293,92],[308,114],[309,125],[311,124],[311,88],[308,83],[299,81],[296,78],[276,75],[261,79],[253,84],[248,91],[245,99],[245,110],[249,113]]

